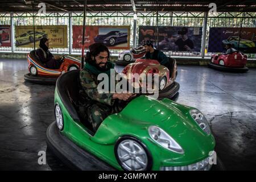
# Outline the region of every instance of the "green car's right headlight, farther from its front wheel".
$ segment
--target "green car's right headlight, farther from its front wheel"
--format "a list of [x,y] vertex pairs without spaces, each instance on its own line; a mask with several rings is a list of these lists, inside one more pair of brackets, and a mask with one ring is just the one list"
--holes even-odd
[[196,121],[196,123],[200,126],[200,128],[209,135],[210,127],[204,115],[197,109],[192,109],[189,111],[189,113],[191,117]]

